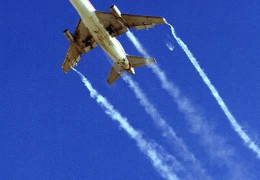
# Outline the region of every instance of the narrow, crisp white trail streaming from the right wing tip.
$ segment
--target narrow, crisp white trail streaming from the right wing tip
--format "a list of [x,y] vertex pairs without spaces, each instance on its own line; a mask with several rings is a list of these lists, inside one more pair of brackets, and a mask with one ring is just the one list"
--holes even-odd
[[187,46],[176,36],[174,32],[174,28],[170,25],[171,33],[174,36],[175,40],[178,42],[179,46],[183,49],[183,51],[188,56],[189,60],[193,64],[193,66],[198,71],[199,75],[203,79],[204,83],[210,89],[212,95],[216,99],[217,103],[220,105],[221,109],[224,111],[225,115],[227,116],[228,120],[230,121],[233,129],[238,133],[238,135],[243,139],[245,144],[252,149],[256,154],[257,157],[260,158],[260,149],[259,147],[250,139],[250,137],[242,130],[241,126],[236,122],[235,118],[232,116],[228,108],[226,107],[225,103],[223,102],[222,98],[219,96],[218,92],[216,91],[215,87],[211,84],[210,80],[207,78],[203,70],[199,67],[198,62],[192,55],[192,53],[188,50]]

